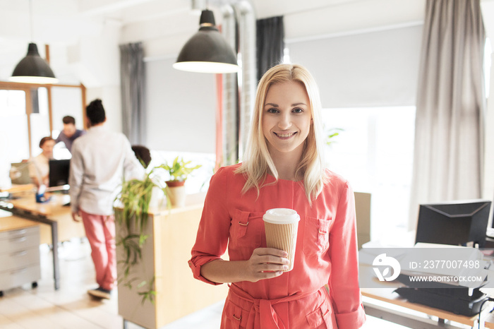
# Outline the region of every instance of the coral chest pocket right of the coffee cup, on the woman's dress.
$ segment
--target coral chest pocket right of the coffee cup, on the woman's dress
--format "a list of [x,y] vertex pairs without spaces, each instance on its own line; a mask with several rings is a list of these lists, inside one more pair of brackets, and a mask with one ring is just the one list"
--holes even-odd
[[330,246],[332,220],[306,217],[303,234],[303,253],[307,256],[325,253]]

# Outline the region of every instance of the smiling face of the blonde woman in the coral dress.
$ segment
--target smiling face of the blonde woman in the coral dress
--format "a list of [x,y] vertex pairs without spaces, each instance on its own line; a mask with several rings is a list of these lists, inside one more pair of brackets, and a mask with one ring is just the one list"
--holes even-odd
[[272,157],[300,158],[311,128],[311,105],[306,88],[298,82],[276,83],[267,90],[262,124]]

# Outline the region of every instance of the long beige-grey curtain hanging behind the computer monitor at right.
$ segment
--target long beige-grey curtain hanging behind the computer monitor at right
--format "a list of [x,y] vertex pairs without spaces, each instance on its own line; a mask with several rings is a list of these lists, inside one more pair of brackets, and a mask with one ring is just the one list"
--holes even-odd
[[428,0],[409,229],[421,203],[481,197],[485,32],[479,0]]

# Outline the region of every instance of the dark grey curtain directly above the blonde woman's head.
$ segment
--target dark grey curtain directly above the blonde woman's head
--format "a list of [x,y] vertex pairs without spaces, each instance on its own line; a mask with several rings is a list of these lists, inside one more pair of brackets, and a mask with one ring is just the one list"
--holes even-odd
[[284,50],[283,16],[257,20],[256,22],[257,78],[282,62]]

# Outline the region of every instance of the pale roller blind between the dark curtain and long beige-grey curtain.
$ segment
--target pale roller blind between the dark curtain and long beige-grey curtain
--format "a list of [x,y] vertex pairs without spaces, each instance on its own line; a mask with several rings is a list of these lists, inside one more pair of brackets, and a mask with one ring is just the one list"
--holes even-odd
[[318,82],[323,108],[414,106],[422,25],[287,44]]

